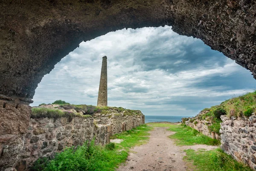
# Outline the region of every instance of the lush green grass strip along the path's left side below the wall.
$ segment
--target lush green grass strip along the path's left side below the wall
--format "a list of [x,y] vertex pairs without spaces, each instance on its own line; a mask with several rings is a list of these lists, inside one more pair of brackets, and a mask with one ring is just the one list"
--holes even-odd
[[131,147],[148,140],[151,129],[141,125],[114,135],[112,138],[123,139],[120,144],[100,146],[91,142],[77,148],[66,148],[51,161],[39,159],[32,171],[114,171],[120,163],[125,162]]

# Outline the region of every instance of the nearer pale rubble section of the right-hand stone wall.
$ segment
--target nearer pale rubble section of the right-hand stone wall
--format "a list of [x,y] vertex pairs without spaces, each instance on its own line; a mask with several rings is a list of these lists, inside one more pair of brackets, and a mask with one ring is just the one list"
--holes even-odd
[[232,119],[223,115],[221,120],[222,150],[256,170],[256,115]]

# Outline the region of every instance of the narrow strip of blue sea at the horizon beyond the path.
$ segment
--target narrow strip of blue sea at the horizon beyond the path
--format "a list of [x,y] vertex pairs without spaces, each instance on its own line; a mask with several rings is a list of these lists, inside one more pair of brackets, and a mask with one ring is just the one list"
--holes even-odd
[[181,122],[181,118],[192,116],[145,116],[145,123],[148,122]]

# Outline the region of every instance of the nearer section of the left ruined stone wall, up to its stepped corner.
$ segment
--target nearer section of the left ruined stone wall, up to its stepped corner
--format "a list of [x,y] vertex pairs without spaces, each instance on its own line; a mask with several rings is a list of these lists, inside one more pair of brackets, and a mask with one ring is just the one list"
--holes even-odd
[[61,152],[66,146],[82,145],[93,137],[96,138],[96,144],[108,143],[108,126],[95,125],[90,117],[74,117],[71,121],[66,117],[30,119],[16,169],[26,170],[39,157],[53,158],[55,153]]

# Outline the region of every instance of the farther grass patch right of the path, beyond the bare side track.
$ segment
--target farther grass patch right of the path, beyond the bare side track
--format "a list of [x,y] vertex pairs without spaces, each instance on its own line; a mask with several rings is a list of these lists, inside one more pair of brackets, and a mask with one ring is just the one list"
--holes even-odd
[[197,130],[186,125],[170,123],[148,123],[148,125],[153,127],[168,127],[168,130],[176,132],[175,134],[169,136],[169,138],[176,140],[176,145],[220,145],[219,140],[205,136],[204,134],[199,133]]

